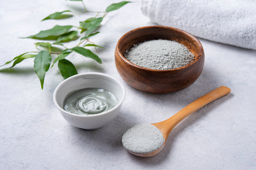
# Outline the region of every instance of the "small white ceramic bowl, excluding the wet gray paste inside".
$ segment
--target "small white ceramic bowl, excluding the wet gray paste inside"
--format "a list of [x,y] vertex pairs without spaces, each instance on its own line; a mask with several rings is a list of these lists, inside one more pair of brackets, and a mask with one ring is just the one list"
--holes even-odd
[[[77,115],[62,109],[66,96],[83,88],[104,88],[114,93],[118,99],[118,103],[111,110],[93,115]],[[83,129],[97,129],[104,127],[117,117],[124,97],[125,89],[123,85],[112,76],[103,73],[83,73],[71,76],[61,82],[54,91],[53,101],[63,118],[71,125]]]

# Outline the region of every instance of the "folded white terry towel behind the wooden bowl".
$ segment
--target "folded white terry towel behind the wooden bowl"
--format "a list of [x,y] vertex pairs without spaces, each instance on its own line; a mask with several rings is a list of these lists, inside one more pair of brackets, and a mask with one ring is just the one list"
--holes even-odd
[[255,0],[142,0],[141,8],[159,25],[256,50]]

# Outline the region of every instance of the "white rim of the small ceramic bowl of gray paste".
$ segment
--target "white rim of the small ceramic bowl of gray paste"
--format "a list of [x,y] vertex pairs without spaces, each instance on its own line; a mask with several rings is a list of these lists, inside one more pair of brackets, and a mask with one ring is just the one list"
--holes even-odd
[[[75,114],[75,113],[70,113],[66,110],[64,110],[63,108],[61,108],[57,101],[56,101],[56,93],[57,93],[57,90],[60,88],[61,85],[65,84],[69,79],[71,78],[74,78],[76,76],[86,76],[86,75],[101,75],[101,76],[106,76],[108,78],[111,78],[111,79],[114,79],[115,82],[117,82],[118,85],[121,86],[122,88],[122,92],[123,92],[123,96],[121,98],[120,101],[118,101],[117,105],[114,106],[114,108],[110,109],[110,110],[107,110],[105,112],[102,112],[102,113],[97,113],[97,114],[91,114],[91,115],[78,115],[78,114]],[[125,88],[124,86],[117,80],[115,79],[113,76],[110,76],[110,75],[107,75],[107,74],[104,74],[104,73],[97,73],[97,72],[90,72],[90,73],[80,73],[80,74],[77,74],[77,75],[74,75],[74,76],[70,76],[68,77],[67,79],[63,80],[59,85],[57,85],[56,89],[54,90],[54,93],[53,93],[53,102],[54,104],[57,106],[57,108],[63,112],[65,112],[66,114],[69,114],[71,116],[77,116],[77,117],[98,117],[98,116],[101,116],[103,114],[108,114],[109,112],[111,112],[112,110],[114,110],[115,108],[119,107],[122,103],[123,103],[123,100],[125,98]]]

